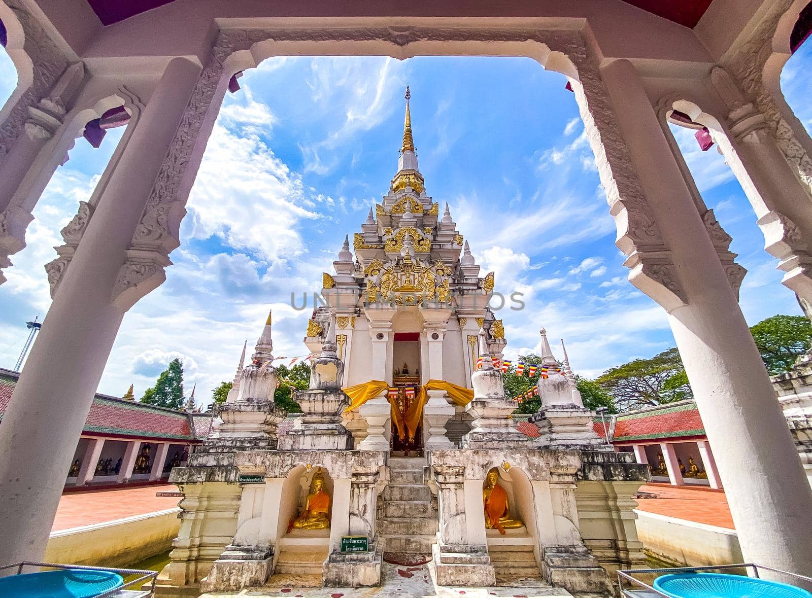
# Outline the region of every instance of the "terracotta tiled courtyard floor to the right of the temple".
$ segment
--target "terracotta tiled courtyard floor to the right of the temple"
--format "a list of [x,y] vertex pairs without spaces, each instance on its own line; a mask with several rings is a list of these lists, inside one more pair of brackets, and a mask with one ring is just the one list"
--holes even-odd
[[728,500],[722,490],[670,484],[649,484],[640,489],[659,498],[641,498],[637,501],[639,510],[733,529]]

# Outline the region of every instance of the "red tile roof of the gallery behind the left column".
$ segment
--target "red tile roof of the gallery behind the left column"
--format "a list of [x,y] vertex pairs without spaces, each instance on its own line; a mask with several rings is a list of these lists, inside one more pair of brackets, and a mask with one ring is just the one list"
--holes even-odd
[[[0,422],[11,400],[17,372],[0,372]],[[209,415],[192,415],[142,402],[96,394],[84,423],[84,433],[166,441],[201,441],[209,432]]]

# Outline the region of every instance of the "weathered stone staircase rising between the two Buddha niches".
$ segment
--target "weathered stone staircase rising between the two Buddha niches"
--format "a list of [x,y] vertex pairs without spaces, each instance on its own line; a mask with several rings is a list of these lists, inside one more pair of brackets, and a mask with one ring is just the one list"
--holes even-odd
[[437,501],[423,483],[422,457],[392,457],[389,484],[382,493],[378,510],[378,536],[387,553],[425,555],[437,540]]

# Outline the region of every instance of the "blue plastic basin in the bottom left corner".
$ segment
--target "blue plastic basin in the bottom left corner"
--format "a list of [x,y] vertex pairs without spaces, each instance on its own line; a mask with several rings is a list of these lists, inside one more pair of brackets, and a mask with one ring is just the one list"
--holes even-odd
[[122,587],[124,579],[112,571],[65,569],[9,575],[0,578],[2,598],[92,598]]

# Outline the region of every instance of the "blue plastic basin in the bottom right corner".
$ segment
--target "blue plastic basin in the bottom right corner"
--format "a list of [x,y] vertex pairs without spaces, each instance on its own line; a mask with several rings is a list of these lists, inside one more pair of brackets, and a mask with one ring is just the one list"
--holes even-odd
[[654,589],[672,598],[812,598],[788,583],[722,573],[660,575]]

